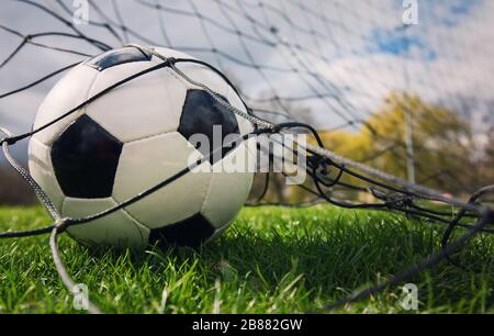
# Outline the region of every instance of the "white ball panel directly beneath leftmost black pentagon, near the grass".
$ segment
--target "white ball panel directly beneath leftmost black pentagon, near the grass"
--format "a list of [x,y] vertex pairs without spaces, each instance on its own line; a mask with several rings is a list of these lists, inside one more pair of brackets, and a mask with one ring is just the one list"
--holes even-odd
[[[99,200],[66,198],[61,215],[75,219],[85,217],[115,205],[117,203],[112,198]],[[147,245],[149,238],[149,229],[137,223],[123,210],[83,225],[70,226],[67,231],[79,243],[87,246],[108,245],[142,248]]]

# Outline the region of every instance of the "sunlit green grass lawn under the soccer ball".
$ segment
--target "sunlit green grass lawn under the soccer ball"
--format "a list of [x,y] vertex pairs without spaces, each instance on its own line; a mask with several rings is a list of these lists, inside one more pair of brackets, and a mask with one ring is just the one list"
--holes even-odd
[[[0,229],[46,225],[40,208],[0,209]],[[63,236],[69,273],[106,313],[297,313],[312,311],[437,250],[441,228],[382,212],[245,209],[201,251],[91,253]],[[75,313],[47,236],[0,240],[3,313]],[[409,282],[419,313],[494,312],[494,239],[478,237]],[[401,287],[337,312],[402,313]]]

